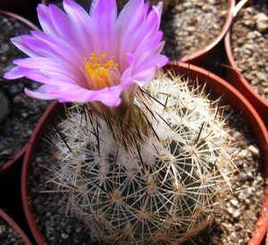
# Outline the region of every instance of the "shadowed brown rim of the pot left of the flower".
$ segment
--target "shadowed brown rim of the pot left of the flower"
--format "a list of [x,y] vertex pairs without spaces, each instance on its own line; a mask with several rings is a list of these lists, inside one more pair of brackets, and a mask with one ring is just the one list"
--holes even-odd
[[[21,15],[17,13],[11,13],[8,11],[0,10],[0,14],[5,15],[7,17],[12,17],[18,21],[21,21],[24,25],[28,26],[32,30],[39,30],[38,27],[34,23],[25,19],[24,17],[22,17]],[[11,165],[16,163],[19,159],[21,159],[21,156],[23,156],[23,154],[25,153],[26,148],[27,148],[27,143],[10,160],[5,162],[4,165],[0,167],[0,173],[1,174],[4,173],[7,169],[10,168]]]

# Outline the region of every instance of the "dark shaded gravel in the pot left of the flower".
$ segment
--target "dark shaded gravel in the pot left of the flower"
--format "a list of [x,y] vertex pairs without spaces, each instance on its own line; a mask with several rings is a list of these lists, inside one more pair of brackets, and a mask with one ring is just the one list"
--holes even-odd
[[13,59],[24,57],[10,38],[29,33],[29,28],[0,14],[0,167],[27,143],[43,114],[46,101],[27,97],[24,88],[37,89],[38,83],[27,79],[5,80],[4,72],[13,68]]

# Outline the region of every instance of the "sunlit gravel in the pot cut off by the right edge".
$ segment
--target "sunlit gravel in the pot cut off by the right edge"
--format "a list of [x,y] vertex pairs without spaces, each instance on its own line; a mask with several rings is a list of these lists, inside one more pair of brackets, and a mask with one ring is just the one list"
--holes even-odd
[[233,24],[230,45],[239,71],[268,102],[268,2],[253,1]]

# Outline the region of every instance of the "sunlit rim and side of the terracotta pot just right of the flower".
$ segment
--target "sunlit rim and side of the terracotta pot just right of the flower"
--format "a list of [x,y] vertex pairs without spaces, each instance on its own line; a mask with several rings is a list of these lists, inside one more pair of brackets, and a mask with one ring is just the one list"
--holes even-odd
[[[222,30],[220,31],[218,36],[214,38],[214,40],[209,45],[201,48],[196,53],[180,58],[180,62],[192,63],[198,66],[203,66],[205,60],[214,61],[214,56],[218,55],[219,53],[216,47],[223,40],[227,31],[230,30],[230,25],[233,19],[233,11],[234,11],[235,4],[236,4],[235,0],[227,1],[228,13],[227,13],[226,21],[224,22]],[[207,67],[207,69],[210,69],[210,67]]]

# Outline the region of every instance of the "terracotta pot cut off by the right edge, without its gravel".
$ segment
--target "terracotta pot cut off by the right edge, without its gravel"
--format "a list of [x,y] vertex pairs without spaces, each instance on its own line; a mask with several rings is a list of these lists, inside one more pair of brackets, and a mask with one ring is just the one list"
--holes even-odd
[[[237,4],[234,14],[239,12],[239,9],[245,4],[247,4],[247,0],[242,0]],[[224,45],[226,54],[228,57],[228,63],[230,64],[230,69],[227,69],[227,77],[230,80],[230,84],[233,85],[236,89],[247,97],[248,101],[255,107],[255,110],[258,114],[260,114],[261,118],[264,120],[264,124],[268,129],[268,101],[261,97],[254,89],[250,86],[249,82],[243,76],[241,72],[239,72],[239,68],[235,63],[235,60],[232,55],[232,50],[230,46],[230,34],[231,30],[229,30],[224,38]]]

